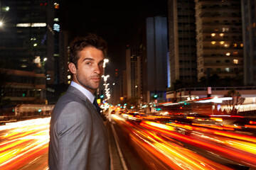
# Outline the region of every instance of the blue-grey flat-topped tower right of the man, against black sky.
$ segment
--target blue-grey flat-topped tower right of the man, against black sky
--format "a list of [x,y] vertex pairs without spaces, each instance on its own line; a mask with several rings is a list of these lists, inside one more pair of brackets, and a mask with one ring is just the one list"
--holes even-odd
[[[168,55],[167,19],[162,16],[146,18],[146,55],[142,58],[143,101],[149,103],[157,95],[158,101],[165,101],[167,88]],[[146,92],[146,94],[145,94]]]

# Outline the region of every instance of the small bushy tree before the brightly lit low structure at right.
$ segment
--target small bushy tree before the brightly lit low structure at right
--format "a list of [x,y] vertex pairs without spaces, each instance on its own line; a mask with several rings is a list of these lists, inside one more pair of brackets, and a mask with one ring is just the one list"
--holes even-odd
[[241,94],[235,89],[228,91],[224,97],[232,97],[232,100],[224,101],[225,105],[228,106],[227,113],[230,115],[237,115],[238,108],[245,101],[245,98],[242,98]]

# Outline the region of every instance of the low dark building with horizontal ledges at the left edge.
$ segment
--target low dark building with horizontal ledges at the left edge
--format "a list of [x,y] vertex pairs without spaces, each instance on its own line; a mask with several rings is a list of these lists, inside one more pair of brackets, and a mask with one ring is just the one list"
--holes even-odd
[[4,89],[4,100],[9,104],[31,103],[47,104],[45,74],[15,69],[0,69],[6,76],[1,82]]

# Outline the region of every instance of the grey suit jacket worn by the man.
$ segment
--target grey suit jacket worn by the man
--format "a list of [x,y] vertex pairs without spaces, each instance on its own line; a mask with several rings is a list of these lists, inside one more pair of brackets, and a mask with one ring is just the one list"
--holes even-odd
[[50,170],[110,169],[107,131],[95,106],[73,86],[50,120]]

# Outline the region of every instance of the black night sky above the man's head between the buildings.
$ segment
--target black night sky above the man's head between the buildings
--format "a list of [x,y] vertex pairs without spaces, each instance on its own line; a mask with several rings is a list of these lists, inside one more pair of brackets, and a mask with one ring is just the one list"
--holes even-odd
[[109,45],[108,69],[125,68],[126,45],[138,41],[139,26],[146,17],[167,16],[167,0],[60,1],[60,26],[70,38],[96,33]]

